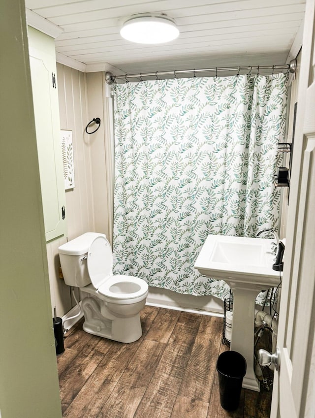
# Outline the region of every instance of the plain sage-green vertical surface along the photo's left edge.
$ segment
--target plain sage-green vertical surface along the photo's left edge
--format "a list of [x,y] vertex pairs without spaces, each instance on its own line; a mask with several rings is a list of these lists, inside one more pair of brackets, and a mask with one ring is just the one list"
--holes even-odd
[[61,418],[23,0],[1,0],[0,38],[1,416]]

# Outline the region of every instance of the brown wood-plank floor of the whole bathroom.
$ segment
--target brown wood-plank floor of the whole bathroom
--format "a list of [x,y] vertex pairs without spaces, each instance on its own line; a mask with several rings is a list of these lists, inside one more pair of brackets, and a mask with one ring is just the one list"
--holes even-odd
[[216,362],[222,319],[146,306],[142,337],[122,344],[87,334],[82,321],[58,356],[64,418],[267,418],[271,392],[242,389],[221,408]]

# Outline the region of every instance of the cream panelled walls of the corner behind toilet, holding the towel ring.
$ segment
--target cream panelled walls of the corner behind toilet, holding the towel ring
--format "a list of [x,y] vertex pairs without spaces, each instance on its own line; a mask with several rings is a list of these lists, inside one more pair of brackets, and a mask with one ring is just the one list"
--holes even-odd
[[[52,309],[56,306],[60,317],[75,301],[70,288],[59,278],[58,247],[85,232],[108,235],[102,77],[101,72],[87,74],[57,64],[60,126],[72,130],[75,176],[75,187],[65,192],[67,236],[47,243]],[[85,128],[95,117],[101,119],[101,126],[89,135]]]

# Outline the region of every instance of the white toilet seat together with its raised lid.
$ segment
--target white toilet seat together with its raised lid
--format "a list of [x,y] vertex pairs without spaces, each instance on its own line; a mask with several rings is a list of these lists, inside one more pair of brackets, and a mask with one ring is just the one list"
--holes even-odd
[[138,277],[113,275],[113,253],[104,236],[97,236],[88,251],[88,272],[97,292],[114,303],[135,303],[148,292],[148,284]]

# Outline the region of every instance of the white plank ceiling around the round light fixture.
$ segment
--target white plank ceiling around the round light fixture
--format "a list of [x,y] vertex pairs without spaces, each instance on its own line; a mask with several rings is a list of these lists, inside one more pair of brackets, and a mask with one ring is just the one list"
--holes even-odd
[[[31,26],[41,29],[42,22],[61,32],[57,61],[130,74],[284,64],[301,45],[305,0],[26,0],[26,6]],[[155,46],[123,39],[124,19],[145,12],[175,19],[179,37]]]

